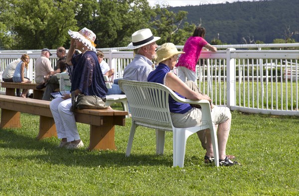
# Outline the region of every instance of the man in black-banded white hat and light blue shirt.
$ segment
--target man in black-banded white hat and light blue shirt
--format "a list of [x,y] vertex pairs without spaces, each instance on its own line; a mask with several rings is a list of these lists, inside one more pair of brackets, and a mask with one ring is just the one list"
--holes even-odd
[[152,71],[151,60],[156,57],[155,50],[158,47],[156,40],[149,28],[141,29],[132,34],[132,42],[128,49],[133,49],[136,54],[134,60],[124,70],[125,80],[147,81]]

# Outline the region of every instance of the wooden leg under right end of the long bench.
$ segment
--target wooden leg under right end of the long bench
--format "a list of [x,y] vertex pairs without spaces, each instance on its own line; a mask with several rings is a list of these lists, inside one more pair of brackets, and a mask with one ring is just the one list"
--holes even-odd
[[90,125],[88,150],[116,150],[113,117],[107,117],[104,121],[105,125],[102,126]]

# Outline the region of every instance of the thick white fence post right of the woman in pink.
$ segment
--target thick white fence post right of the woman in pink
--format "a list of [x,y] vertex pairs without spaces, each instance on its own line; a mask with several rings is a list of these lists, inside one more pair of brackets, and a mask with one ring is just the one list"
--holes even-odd
[[231,59],[231,51],[235,51],[235,48],[228,48],[226,50],[226,106],[236,105],[236,59]]

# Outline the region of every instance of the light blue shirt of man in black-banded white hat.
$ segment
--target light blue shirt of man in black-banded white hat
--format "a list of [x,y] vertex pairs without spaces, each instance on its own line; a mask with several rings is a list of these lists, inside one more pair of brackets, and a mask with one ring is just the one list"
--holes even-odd
[[137,54],[134,60],[124,70],[125,80],[148,81],[149,73],[152,71],[152,62],[145,56]]

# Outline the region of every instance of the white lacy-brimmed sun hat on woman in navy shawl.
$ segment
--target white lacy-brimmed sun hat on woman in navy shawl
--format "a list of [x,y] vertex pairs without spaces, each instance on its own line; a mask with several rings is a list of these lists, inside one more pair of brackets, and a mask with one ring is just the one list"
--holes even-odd
[[79,32],[68,30],[68,34],[74,39],[79,39],[88,49],[96,52],[96,44],[94,43],[96,34],[88,28],[84,27]]

